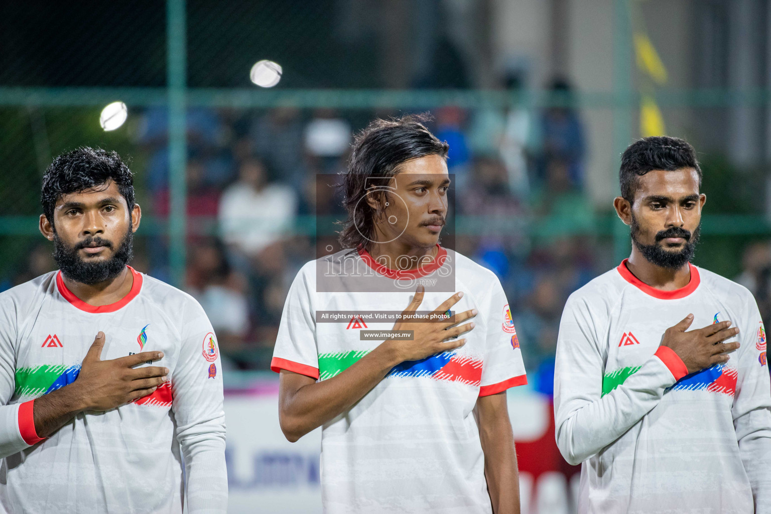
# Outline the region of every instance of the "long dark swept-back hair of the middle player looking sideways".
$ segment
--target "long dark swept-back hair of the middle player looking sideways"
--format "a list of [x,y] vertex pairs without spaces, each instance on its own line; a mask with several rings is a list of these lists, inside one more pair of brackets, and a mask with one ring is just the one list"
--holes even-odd
[[[343,207],[348,212],[338,238],[343,248],[366,247],[373,236],[375,210],[369,203],[359,201],[370,187],[385,185],[399,173],[399,165],[408,160],[429,155],[447,159],[449,145],[439,141],[423,124],[430,119],[427,114],[375,119],[355,136],[341,184]],[[379,190],[374,194],[382,199],[385,193]]]

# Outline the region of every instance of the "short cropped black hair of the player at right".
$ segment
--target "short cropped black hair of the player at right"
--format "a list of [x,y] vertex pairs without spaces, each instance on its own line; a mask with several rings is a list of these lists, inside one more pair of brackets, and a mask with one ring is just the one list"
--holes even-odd
[[639,184],[638,177],[652,170],[675,171],[693,168],[699,173],[699,189],[702,187],[702,169],[696,152],[688,142],[678,137],[644,137],[631,143],[621,155],[618,181],[621,197],[634,203]]

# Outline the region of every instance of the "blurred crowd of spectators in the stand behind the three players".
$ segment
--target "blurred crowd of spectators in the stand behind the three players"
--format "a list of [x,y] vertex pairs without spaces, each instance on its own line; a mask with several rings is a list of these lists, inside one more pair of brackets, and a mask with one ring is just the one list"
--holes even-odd
[[[564,80],[554,80],[552,89],[570,94]],[[316,220],[345,219],[339,191],[327,184],[345,170],[352,134],[372,118],[394,114],[291,106],[188,111],[185,287],[204,306],[232,368],[268,368],[291,281],[318,256],[319,239],[334,239],[331,231],[316,237],[323,225]],[[564,302],[614,264],[607,260],[609,243],[602,247],[592,230],[582,230],[593,208],[584,194],[581,118],[562,107],[443,106],[431,114],[429,128],[449,143],[450,210],[457,215],[452,243],[500,278],[525,364],[543,377],[536,387],[550,392]],[[163,108],[142,114],[136,144],[146,156],[146,166],[134,170],[143,213],[163,219],[170,210]],[[160,233],[140,229],[133,266],[170,281],[168,239]],[[54,268],[49,247],[40,244],[27,269],[0,290]],[[769,244],[747,248],[737,280],[756,294],[765,317]]]

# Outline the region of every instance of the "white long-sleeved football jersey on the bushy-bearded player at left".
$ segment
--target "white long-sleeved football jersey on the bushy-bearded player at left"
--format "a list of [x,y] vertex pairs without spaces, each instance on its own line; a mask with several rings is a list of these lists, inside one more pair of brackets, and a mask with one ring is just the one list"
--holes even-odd
[[[183,475],[189,512],[226,511],[214,331],[190,295],[130,271],[130,293],[100,307],[79,300],[56,271],[0,294],[0,512],[182,512]],[[41,440],[33,401],[76,380],[99,331],[102,360],[163,351],[152,365],[169,368],[169,380]]]

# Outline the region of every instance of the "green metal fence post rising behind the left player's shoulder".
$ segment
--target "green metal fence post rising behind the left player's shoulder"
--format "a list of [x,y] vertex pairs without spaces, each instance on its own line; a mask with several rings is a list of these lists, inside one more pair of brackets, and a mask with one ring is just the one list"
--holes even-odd
[[182,287],[185,274],[187,139],[185,130],[187,35],[185,0],[167,0],[167,95],[169,108],[169,265],[174,285]]

